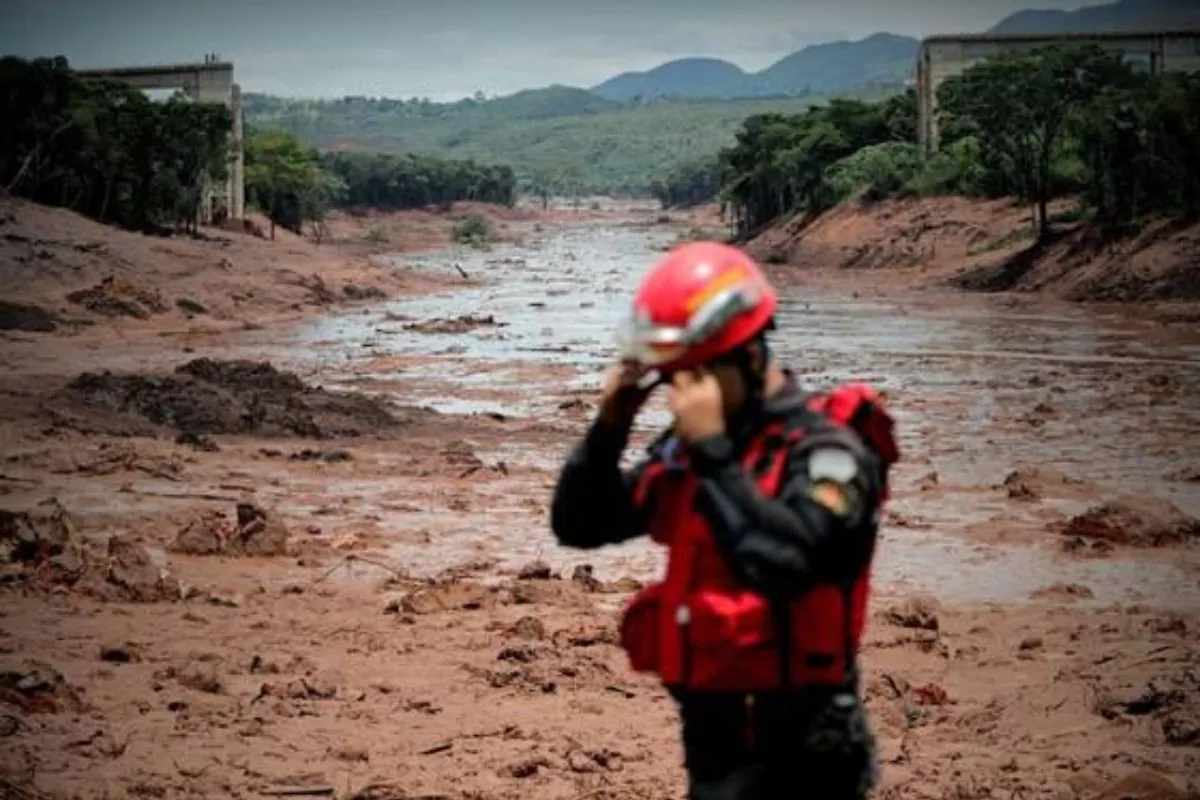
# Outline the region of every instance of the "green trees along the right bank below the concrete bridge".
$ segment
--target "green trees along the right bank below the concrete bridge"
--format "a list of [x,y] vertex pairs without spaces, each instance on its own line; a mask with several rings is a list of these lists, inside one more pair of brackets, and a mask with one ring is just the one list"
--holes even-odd
[[1200,73],[1153,76],[1092,46],[979,62],[938,88],[938,150],[916,140],[916,97],[836,100],[746,119],[731,146],[655,186],[665,205],[718,196],[740,236],[851,197],[1080,197],[1109,230],[1200,211]]

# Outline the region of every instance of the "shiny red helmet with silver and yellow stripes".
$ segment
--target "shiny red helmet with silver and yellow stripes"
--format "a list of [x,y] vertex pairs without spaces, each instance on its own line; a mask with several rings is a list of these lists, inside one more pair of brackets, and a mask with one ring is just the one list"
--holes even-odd
[[655,369],[697,367],[754,339],[778,306],[746,253],[714,241],[682,245],[642,278],[622,351]]

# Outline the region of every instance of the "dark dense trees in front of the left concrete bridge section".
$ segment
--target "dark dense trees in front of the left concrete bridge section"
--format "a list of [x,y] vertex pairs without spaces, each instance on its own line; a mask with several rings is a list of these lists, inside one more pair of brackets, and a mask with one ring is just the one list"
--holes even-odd
[[12,194],[157,230],[190,225],[205,176],[226,176],[224,106],[155,103],[61,58],[0,59],[0,187]]

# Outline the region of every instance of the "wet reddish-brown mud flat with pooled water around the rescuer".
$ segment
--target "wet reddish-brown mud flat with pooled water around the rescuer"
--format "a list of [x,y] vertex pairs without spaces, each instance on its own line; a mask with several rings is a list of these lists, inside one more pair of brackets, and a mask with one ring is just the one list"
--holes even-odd
[[[521,224],[401,259],[470,284],[188,351],[5,342],[13,796],[680,794],[668,698],[614,639],[661,553],[546,529],[676,231]],[[905,435],[864,654],[878,796],[1195,796],[1200,336],[786,283],[782,356],[878,383]]]

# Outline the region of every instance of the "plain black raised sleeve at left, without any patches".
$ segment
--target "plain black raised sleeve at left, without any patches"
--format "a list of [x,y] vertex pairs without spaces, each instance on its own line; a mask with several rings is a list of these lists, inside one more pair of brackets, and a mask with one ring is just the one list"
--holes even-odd
[[571,450],[550,510],[550,527],[559,545],[593,549],[646,533],[649,506],[635,506],[634,487],[647,462],[620,469],[628,441],[628,431],[595,420]]

